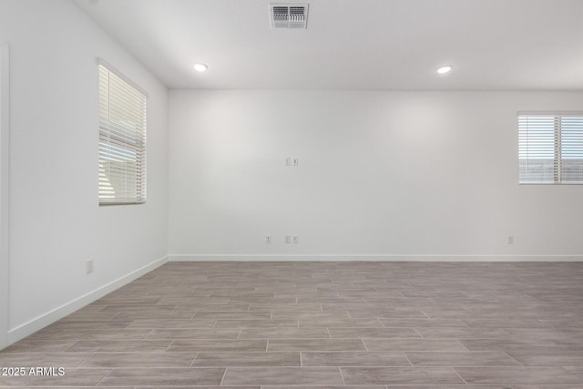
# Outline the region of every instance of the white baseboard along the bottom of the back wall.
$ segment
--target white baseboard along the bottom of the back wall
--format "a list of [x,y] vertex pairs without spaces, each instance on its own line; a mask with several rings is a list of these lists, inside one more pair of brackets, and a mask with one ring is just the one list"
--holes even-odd
[[583,255],[170,254],[169,261],[579,262]]

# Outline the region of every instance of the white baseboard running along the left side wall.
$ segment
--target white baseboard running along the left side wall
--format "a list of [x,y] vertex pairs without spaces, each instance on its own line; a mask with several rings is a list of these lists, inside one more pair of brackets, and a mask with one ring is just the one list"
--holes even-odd
[[153,271],[168,261],[168,256],[162,257],[159,260],[148,263],[148,265],[143,266],[136,271],[131,271],[130,273],[119,277],[117,280],[97,288],[95,291],[88,292],[71,302],[66,302],[60,307],[57,307],[52,311],[46,312],[36,317],[29,322],[18,325],[17,327],[8,331],[8,344],[15,343],[23,338],[26,338],[26,336],[32,333],[36,333],[36,331],[45,328],[47,325],[64,318],[66,315],[73,313],[80,308],[83,308],[91,302],[95,302],[97,299],[100,299],[107,293],[113,292],[118,288],[128,284],[129,282],[138,279],[142,275],[148,273],[149,271]]

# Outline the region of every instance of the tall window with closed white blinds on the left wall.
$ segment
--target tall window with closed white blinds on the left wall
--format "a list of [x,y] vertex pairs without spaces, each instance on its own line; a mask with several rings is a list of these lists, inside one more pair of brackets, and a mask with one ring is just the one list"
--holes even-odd
[[147,94],[102,59],[99,67],[99,205],[146,202]]

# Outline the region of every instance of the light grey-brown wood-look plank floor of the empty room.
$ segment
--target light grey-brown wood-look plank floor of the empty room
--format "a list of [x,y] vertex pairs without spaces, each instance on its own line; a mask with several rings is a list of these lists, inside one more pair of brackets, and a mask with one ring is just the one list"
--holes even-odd
[[581,389],[583,263],[170,262],[0,366],[26,368],[0,386]]

